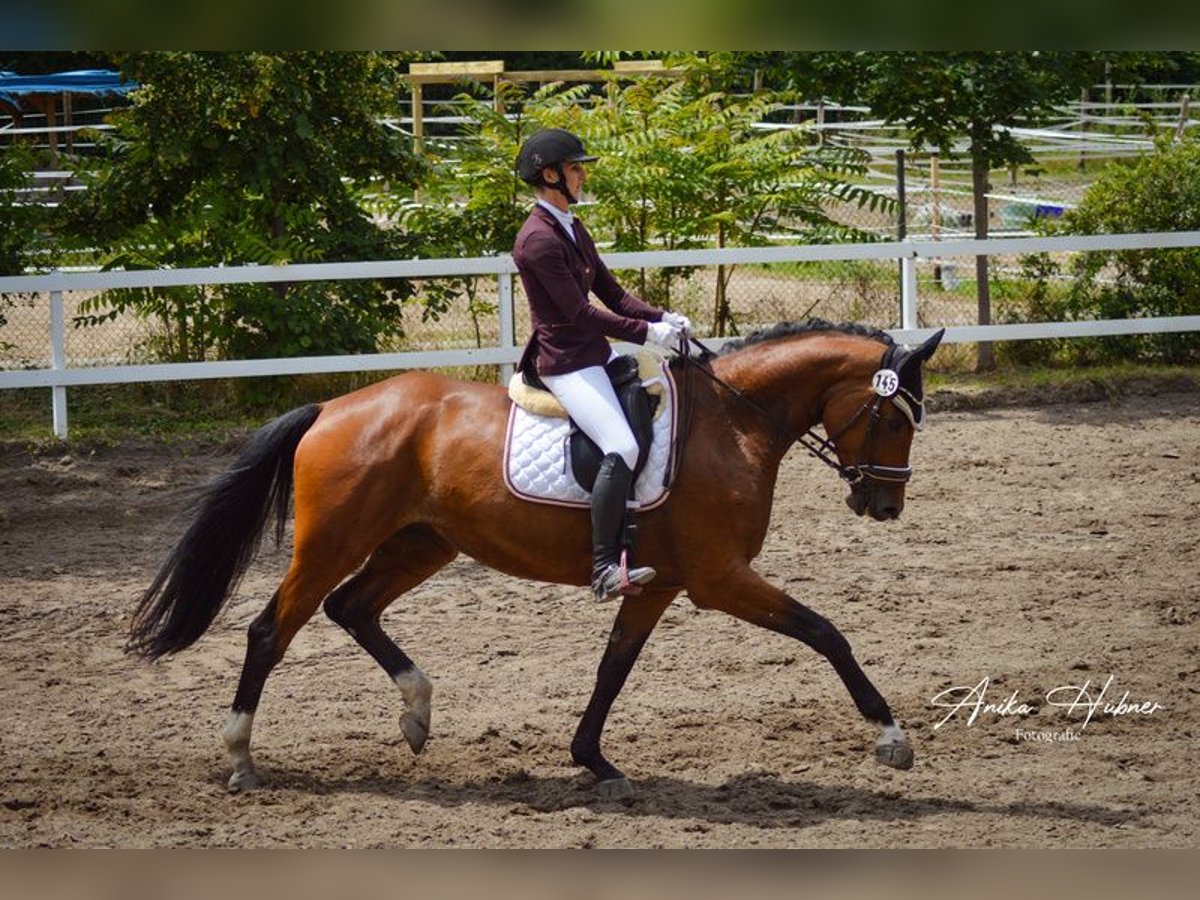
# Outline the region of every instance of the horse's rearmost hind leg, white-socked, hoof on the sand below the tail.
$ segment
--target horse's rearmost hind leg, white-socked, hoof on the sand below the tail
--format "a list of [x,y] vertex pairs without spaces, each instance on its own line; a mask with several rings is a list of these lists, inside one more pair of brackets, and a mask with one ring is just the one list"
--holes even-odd
[[[306,562],[308,559],[319,559],[320,564],[310,564]],[[301,554],[298,551],[275,596],[250,623],[246,661],[242,664],[233,709],[222,733],[226,750],[233,762],[230,791],[246,791],[259,784],[250,755],[250,737],[266,677],[283,659],[292,638],[312,618],[322,598],[353,568],[353,560],[340,560],[336,554]]]

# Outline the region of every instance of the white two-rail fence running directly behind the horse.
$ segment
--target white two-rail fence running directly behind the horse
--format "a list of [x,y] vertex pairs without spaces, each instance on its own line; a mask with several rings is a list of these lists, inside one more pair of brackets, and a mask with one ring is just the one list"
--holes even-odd
[[[900,328],[889,334],[901,342],[928,337],[934,328],[918,328],[917,260],[947,257],[974,257],[1038,252],[1086,252],[1198,247],[1200,232],[1163,232],[1064,238],[1004,238],[986,241],[900,241],[889,244],[832,244],[788,247],[749,247],[691,251],[608,253],[613,269],[733,265],[740,263],[799,263],[848,259],[896,259],[901,270]],[[439,366],[499,365],[505,372],[520,359],[521,344],[515,334],[511,257],[473,259],[412,259],[372,263],[323,263],[280,266],[236,266],[169,269],[154,271],[52,274],[0,277],[0,294],[46,294],[49,298],[47,326],[50,359],[43,368],[0,371],[0,389],[49,388],[54,433],[67,437],[66,389],[84,384],[169,382],[199,378],[241,378],[317,372],[365,372]],[[66,323],[62,293],[110,290],[114,288],[162,288],[199,284],[242,284],[298,281],[341,281],[356,278],[428,278],[444,276],[494,276],[498,284],[500,340],[497,346],[456,350],[420,350],[346,356],[302,356],[290,359],[229,360],[214,362],[172,362],[68,367],[66,365]],[[1049,337],[1133,335],[1164,331],[1200,331],[1200,316],[1170,318],[1057,322],[1010,325],[950,326],[946,341],[1021,341]],[[719,344],[721,341],[713,341]]]

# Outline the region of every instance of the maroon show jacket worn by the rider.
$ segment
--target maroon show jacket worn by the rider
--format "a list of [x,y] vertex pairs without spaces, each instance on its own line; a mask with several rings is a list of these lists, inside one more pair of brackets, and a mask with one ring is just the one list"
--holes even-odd
[[[602,366],[611,355],[606,337],[646,343],[647,323],[662,318],[661,310],[617,283],[578,218],[575,234],[578,244],[548,210],[534,206],[512,245],[533,325],[522,372],[565,374]],[[589,292],[607,308],[589,302]]]

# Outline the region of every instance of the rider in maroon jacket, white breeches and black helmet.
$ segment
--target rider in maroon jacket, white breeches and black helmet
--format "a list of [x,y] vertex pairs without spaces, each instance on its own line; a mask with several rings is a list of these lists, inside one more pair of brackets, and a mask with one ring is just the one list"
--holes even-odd
[[[605,365],[617,356],[606,338],[647,340],[673,347],[691,328],[688,317],[658,310],[626,292],[600,259],[592,235],[571,212],[580,202],[588,156],[583,142],[562,128],[533,134],[517,155],[517,175],[538,193],[512,246],[533,335],[521,371],[550,389],[575,424],[604,454],[592,490],[592,592],[596,600],[637,593],[655,576],[629,568],[623,552],[625,500],[637,442],[617,402]],[[588,301],[594,293],[604,304]]]

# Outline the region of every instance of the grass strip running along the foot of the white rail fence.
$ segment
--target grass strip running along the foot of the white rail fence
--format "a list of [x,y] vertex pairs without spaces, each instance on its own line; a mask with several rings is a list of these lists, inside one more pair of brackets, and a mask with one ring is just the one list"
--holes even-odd
[[[972,348],[973,349],[973,348]],[[124,442],[224,443],[302,403],[348,392],[383,378],[382,373],[322,376],[257,382],[190,382],[70,388],[71,444],[114,446]],[[1134,388],[1200,390],[1200,366],[1122,364],[1094,367],[1004,367],[973,374],[960,367],[930,371],[926,388],[989,402],[1037,401],[1055,396],[1085,398],[1072,388],[1102,388],[1120,396]],[[269,392],[270,396],[269,396]],[[1094,392],[1094,391],[1092,391]],[[990,398],[990,400],[989,400]],[[0,443],[48,449],[58,445],[50,421],[50,391],[44,388],[0,390]]]

